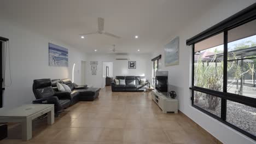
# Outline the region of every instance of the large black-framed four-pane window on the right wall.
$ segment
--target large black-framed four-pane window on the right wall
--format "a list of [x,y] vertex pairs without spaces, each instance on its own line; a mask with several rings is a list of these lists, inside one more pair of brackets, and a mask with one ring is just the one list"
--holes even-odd
[[256,140],[256,3],[187,44],[192,106]]

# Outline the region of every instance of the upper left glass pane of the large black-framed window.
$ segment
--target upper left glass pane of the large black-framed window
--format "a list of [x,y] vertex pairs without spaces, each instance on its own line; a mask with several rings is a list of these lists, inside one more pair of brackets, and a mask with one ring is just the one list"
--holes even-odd
[[194,86],[223,91],[223,49],[223,33],[195,44]]

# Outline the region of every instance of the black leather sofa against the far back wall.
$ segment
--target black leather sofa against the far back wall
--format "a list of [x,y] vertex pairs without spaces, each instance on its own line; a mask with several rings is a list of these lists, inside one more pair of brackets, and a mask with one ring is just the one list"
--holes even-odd
[[144,85],[140,85],[141,79],[146,79],[145,76],[116,76],[115,79],[125,80],[125,85],[116,85],[113,80],[111,83],[112,92],[144,92],[149,83],[146,80]]

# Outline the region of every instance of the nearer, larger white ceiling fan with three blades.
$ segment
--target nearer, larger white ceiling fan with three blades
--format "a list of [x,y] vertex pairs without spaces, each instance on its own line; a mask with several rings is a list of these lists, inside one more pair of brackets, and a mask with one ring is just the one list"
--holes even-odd
[[97,32],[92,32],[92,33],[84,33],[84,34],[80,34],[81,38],[84,38],[85,35],[90,35],[90,34],[105,34],[108,35],[110,37],[114,37],[117,39],[120,39],[121,37],[114,35],[112,33],[108,33],[106,31],[104,31],[104,19],[101,17],[98,17],[98,31]]

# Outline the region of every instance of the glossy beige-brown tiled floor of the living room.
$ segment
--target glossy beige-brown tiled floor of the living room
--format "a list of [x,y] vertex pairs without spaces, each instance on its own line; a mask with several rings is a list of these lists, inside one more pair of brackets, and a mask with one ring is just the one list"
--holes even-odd
[[[0,143],[214,143],[182,114],[163,114],[145,93],[102,89],[95,101],[69,107],[53,125],[33,122],[33,139],[20,139],[20,125],[12,126]],[[14,138],[15,137],[15,138]]]

